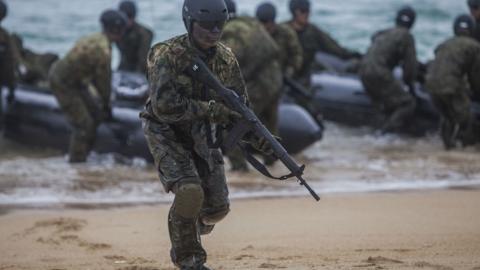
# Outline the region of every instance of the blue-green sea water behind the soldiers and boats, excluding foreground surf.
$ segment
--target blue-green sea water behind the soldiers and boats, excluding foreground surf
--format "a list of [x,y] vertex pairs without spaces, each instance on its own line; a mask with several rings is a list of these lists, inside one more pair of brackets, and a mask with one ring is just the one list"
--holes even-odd
[[[25,38],[25,45],[36,51],[65,54],[76,39],[99,31],[98,17],[115,0],[6,0],[9,16],[4,25]],[[155,32],[155,41],[185,32],[181,0],[137,0],[138,20]],[[240,14],[253,15],[264,0],[238,0]],[[288,0],[272,0],[278,21],[290,18]],[[464,0],[313,0],[311,20],[327,30],[344,46],[365,52],[370,36],[393,25],[396,10],[413,6],[418,20],[413,29],[422,60],[452,34],[453,19],[468,12]]]

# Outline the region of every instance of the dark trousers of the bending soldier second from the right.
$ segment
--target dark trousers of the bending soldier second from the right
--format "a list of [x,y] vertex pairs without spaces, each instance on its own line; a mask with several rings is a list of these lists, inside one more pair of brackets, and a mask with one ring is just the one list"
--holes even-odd
[[363,66],[360,79],[373,105],[386,115],[383,130],[398,128],[413,115],[415,98],[404,90],[390,70],[376,65]]

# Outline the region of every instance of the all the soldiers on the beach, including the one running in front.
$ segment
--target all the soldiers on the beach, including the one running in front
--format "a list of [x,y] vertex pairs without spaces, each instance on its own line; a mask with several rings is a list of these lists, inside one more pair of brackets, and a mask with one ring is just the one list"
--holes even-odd
[[[426,89],[442,115],[447,148],[458,141],[474,143],[480,134],[470,112],[471,99],[480,91],[480,0],[468,0],[468,5],[474,18],[462,15],[455,20],[455,36],[438,46],[426,76]],[[222,151],[212,144],[212,136],[240,117],[217,93],[185,72],[192,59],[200,57],[273,134],[278,132],[283,81],[293,79],[309,89],[318,51],[359,63],[366,93],[386,116],[384,132],[397,129],[415,111],[420,64],[410,32],[416,20],[411,7],[398,11],[395,27],[373,36],[365,55],[342,47],[311,24],[309,0],[291,0],[289,9],[291,20],[277,23],[276,8],[268,2],[249,17],[237,16],[233,0],[184,0],[187,34],[150,48],[152,32],[135,21],[135,4],[124,1],[118,10],[102,13],[100,33],[78,40],[58,61],[45,59],[51,65],[50,88],[73,128],[70,162],[85,161],[97,126],[112,117],[112,43],[121,51],[120,69],[146,73],[150,91],[140,117],[160,180],[167,192],[175,194],[168,225],[170,255],[180,269],[208,269],[200,236],[210,233],[230,209]],[[6,11],[0,0],[0,20]],[[9,101],[14,98],[18,69],[12,40],[0,28],[0,86],[9,89]],[[403,82],[393,74],[398,65],[403,67]],[[91,86],[97,99],[92,98]],[[250,136],[245,143],[263,155],[266,164],[273,162],[265,140]],[[229,158],[233,169],[247,170],[239,150]]]

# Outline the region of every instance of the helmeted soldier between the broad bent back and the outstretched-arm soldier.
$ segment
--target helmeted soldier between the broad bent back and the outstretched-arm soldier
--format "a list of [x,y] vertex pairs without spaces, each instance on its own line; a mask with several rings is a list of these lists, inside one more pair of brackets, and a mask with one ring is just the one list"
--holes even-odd
[[275,23],[276,15],[275,6],[269,2],[257,7],[257,19],[263,24],[280,49],[279,62],[282,72],[285,76],[292,77],[302,67],[302,45],[291,27]]

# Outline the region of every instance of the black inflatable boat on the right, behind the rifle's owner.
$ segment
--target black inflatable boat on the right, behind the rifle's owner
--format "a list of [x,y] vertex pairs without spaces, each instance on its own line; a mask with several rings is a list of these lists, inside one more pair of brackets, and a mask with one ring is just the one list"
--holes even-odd
[[[312,102],[327,120],[352,126],[379,127],[383,116],[372,105],[360,79],[355,74],[346,73],[349,63],[327,54],[317,54],[316,60],[327,71],[316,72],[312,76]],[[401,72],[395,71],[398,78]],[[438,128],[439,115],[432,105],[429,94],[416,84],[417,109],[402,131],[412,135],[424,135]],[[473,110],[480,116],[480,104],[473,104]]]

